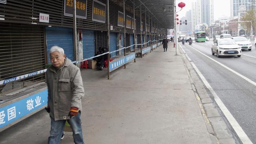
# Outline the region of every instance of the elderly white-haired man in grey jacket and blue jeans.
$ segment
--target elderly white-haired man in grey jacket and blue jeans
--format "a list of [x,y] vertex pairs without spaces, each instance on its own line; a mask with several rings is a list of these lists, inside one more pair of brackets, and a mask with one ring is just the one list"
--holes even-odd
[[66,120],[73,131],[74,143],[84,144],[80,120],[84,96],[80,69],[73,65],[58,46],[50,49],[52,65],[46,71],[51,130],[48,144],[59,144]]

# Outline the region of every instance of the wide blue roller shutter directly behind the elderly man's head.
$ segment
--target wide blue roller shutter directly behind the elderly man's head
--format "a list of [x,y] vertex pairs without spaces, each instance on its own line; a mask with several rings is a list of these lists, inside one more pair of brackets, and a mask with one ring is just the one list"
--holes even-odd
[[73,50],[73,29],[62,27],[46,27],[46,46],[48,63],[50,63],[50,48],[52,46],[59,46],[63,48],[67,58],[74,61]]

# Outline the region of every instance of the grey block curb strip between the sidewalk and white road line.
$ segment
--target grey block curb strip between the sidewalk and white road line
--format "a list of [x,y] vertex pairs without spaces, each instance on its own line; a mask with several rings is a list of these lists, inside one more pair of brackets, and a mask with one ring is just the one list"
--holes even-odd
[[200,107],[212,144],[239,144],[240,142],[232,135],[228,124],[226,124],[226,120],[223,119],[223,114],[216,106],[213,96],[209,94],[191,64],[191,59],[184,53],[184,50],[180,46],[179,48],[181,51],[180,56],[189,76],[191,87],[197,98],[197,103]]

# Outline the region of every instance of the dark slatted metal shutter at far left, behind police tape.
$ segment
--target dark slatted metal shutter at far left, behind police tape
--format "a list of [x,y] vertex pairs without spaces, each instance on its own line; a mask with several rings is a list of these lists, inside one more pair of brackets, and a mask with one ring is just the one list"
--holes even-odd
[[[43,26],[0,23],[0,80],[45,69]],[[2,85],[1,92],[44,81],[45,73]]]

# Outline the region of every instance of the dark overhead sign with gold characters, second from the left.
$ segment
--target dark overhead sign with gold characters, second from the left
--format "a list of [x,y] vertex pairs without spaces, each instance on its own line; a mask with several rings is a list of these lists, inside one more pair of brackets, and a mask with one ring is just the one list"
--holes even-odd
[[92,20],[95,22],[105,23],[106,17],[106,4],[93,0],[93,11]]

